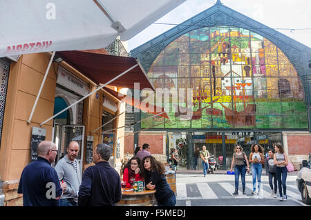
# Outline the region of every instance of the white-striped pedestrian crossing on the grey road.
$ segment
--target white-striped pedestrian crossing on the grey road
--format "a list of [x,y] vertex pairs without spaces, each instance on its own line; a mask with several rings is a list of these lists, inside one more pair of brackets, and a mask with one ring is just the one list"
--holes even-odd
[[[246,194],[242,193],[242,186],[239,183],[238,195],[232,195],[235,190],[234,182],[213,182],[213,183],[176,183],[177,200],[191,199],[274,199],[271,196],[271,189],[268,183],[261,183],[261,193],[252,195],[252,183],[246,183]],[[301,201],[301,194],[295,185],[287,185],[288,199]],[[279,196],[279,190],[278,190]],[[278,197],[279,198],[279,197]]]

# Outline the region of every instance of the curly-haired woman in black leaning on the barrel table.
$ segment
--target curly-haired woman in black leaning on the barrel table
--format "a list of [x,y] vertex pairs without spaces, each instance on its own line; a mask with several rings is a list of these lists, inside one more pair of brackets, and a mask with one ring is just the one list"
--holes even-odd
[[175,206],[176,196],[165,178],[164,165],[152,156],[144,157],[141,164],[146,188],[149,190],[156,189],[155,196],[158,206]]

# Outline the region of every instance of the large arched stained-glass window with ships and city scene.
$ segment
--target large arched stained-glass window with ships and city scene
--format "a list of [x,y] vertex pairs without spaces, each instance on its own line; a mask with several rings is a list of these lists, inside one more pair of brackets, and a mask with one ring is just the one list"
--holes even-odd
[[[308,128],[292,63],[274,43],[243,28],[198,28],[177,37],[148,76],[155,88],[192,88],[194,94],[191,105],[179,93],[162,100],[172,120],[156,128]],[[183,116],[187,108],[192,117]],[[143,121],[142,128],[157,122]]]

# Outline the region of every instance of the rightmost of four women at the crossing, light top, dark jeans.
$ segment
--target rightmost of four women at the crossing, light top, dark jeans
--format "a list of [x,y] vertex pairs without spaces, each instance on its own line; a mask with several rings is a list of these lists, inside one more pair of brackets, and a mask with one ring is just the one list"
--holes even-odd
[[[278,179],[280,201],[287,201],[286,178],[288,177],[288,156],[285,154],[281,144],[274,144],[274,164],[276,165],[276,178]],[[283,192],[282,192],[283,188]]]

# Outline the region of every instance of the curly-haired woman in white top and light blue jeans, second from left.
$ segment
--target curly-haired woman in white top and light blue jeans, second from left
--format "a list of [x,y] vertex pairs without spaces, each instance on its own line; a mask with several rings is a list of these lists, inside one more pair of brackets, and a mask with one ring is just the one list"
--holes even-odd
[[253,192],[256,194],[256,178],[258,184],[258,194],[261,192],[261,172],[263,172],[264,163],[263,147],[257,143],[254,143],[249,154],[249,162],[252,163],[252,177],[253,177]]

